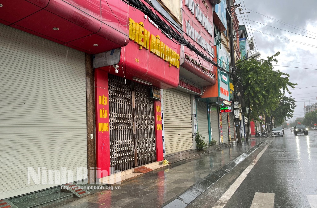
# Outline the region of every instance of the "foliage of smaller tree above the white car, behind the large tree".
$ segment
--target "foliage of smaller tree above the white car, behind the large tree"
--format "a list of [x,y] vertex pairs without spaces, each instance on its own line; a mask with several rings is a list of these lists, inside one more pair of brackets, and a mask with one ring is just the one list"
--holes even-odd
[[293,113],[295,107],[296,105],[294,98],[283,95],[280,98],[280,102],[277,108],[275,108],[275,110],[271,112],[271,115],[275,119],[275,126],[281,126],[286,118],[291,118],[294,115]]

